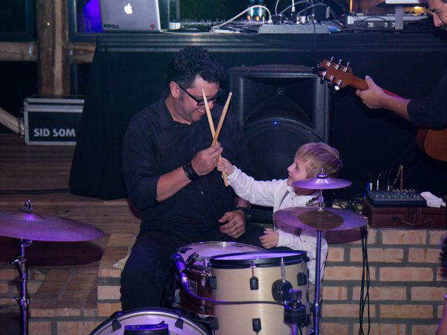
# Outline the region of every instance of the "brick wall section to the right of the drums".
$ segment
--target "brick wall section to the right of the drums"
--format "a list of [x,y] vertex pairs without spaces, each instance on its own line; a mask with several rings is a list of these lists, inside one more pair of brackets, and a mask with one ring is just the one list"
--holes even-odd
[[[447,292],[439,269],[444,234],[368,228],[370,334],[434,334]],[[325,334],[358,334],[362,272],[360,241],[330,244],[323,281]],[[367,307],[362,324],[366,334]]]

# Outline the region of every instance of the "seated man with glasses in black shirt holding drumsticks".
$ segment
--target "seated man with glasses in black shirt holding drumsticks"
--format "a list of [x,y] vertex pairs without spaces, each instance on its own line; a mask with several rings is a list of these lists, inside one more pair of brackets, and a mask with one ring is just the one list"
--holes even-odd
[[261,225],[249,224],[249,204],[223,184],[217,158],[224,154],[250,173],[242,129],[228,113],[219,142],[212,135],[202,90],[214,124],[223,68],[200,47],[170,61],[168,89],[133,117],[124,137],[123,173],[129,198],[142,213],[137,241],[122,271],[122,308],[162,306],[174,281],[170,256],[199,241],[239,241],[261,246]]

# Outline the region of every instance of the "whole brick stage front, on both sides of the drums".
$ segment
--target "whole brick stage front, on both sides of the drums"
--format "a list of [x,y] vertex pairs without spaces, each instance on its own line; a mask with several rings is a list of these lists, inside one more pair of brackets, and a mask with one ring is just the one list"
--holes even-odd
[[[370,334],[434,334],[447,292],[446,278],[439,269],[440,241],[444,233],[444,230],[368,228]],[[348,232],[342,232],[340,236],[348,235]],[[360,234],[352,233],[350,240],[356,236],[358,239]],[[119,310],[120,271],[112,264],[126,255],[133,237],[132,234],[111,234],[107,241],[103,241],[105,250],[96,267],[78,266],[51,271],[30,269],[30,334],[89,334],[111,313]],[[92,271],[98,274],[97,281],[90,278]],[[81,287],[69,292],[69,286],[65,285],[64,290],[58,290],[57,281],[51,282],[50,279],[60,279],[61,276],[77,278],[75,282]],[[18,293],[15,278],[17,271],[11,265],[0,268],[0,308],[3,310],[18,309],[17,303],[10,301],[10,297]],[[90,278],[89,283],[80,284],[82,278]],[[330,243],[322,285],[321,322],[325,335],[358,334],[361,278],[360,241]],[[97,292],[94,304],[87,296],[81,296],[87,295],[82,287],[87,291],[91,282],[95,283],[94,291]],[[47,290],[43,292],[45,285]],[[71,295],[70,303],[64,302],[61,292],[66,297]],[[43,299],[44,293],[47,303]],[[78,306],[76,301],[81,300],[86,302]],[[367,322],[365,307],[362,321],[365,334]]]

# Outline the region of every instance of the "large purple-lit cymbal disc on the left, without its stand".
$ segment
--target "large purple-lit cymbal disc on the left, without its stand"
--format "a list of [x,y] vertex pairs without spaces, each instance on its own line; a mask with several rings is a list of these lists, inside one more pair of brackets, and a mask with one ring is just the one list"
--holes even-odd
[[102,237],[101,229],[74,221],[24,211],[0,212],[0,235],[36,241],[89,241]]

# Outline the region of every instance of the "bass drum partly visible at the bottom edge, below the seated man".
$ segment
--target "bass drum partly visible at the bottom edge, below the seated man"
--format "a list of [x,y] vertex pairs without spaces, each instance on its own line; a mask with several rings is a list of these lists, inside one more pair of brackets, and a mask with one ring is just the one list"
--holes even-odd
[[[165,308],[141,308],[126,312],[113,313],[108,320],[96,327],[90,335],[123,335],[126,326],[168,325],[170,335],[209,335],[205,327],[190,318]],[[157,331],[142,334],[159,334]],[[160,334],[163,334],[160,332]]]

